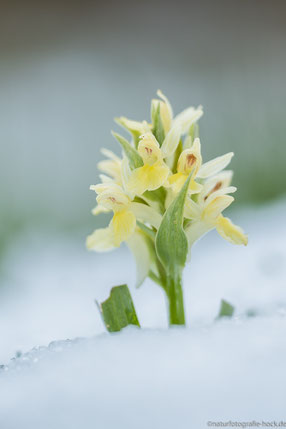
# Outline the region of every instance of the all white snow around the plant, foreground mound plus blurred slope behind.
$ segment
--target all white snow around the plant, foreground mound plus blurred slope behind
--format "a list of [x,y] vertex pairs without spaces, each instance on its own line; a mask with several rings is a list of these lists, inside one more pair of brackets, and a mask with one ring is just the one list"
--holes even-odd
[[[19,238],[0,290],[0,428],[285,420],[285,209],[281,200],[231,215],[249,233],[247,248],[215,232],[194,247],[187,329],[166,329],[164,297],[151,281],[134,288],[125,248],[97,255],[53,234]],[[110,335],[94,299],[125,282],[143,329]],[[222,298],[235,317],[215,321]]]

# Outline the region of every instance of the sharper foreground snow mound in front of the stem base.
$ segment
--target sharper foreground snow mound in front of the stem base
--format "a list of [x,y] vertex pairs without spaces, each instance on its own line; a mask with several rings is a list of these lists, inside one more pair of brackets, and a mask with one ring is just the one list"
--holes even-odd
[[285,329],[283,314],[52,343],[3,371],[1,427],[184,429],[208,421],[280,421]]

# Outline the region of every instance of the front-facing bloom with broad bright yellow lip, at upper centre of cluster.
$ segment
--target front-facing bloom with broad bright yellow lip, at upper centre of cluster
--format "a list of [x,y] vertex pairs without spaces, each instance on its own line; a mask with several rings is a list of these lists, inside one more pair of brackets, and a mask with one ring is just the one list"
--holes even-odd
[[138,152],[144,165],[132,171],[127,190],[136,195],[142,195],[145,191],[154,191],[164,185],[170,170],[164,163],[159,143],[151,132],[142,136]]

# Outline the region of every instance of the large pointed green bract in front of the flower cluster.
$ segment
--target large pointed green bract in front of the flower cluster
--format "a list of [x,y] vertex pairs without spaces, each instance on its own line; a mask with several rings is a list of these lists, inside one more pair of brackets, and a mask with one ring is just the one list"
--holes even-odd
[[184,204],[191,180],[187,178],[180,193],[166,210],[156,235],[156,252],[172,277],[181,275],[188,253],[188,240],[183,230]]

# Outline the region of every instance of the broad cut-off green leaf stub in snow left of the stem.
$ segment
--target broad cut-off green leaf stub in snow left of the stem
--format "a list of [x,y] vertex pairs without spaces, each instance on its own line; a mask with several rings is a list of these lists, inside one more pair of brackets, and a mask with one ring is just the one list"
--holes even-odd
[[121,331],[127,325],[140,327],[127,285],[113,287],[109,298],[99,305],[99,310],[109,332]]

